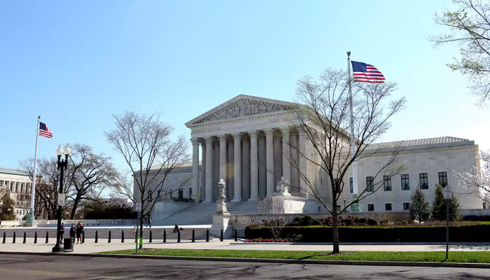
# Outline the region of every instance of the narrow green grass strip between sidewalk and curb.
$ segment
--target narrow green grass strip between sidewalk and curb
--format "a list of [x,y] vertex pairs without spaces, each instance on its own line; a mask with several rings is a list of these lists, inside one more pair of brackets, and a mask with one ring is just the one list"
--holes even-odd
[[[102,252],[102,254],[134,255],[134,250]],[[326,251],[255,251],[255,250],[192,250],[192,249],[144,249],[138,255],[174,255],[189,257],[223,258],[279,258],[294,260],[384,260],[404,262],[443,262],[442,252],[392,252],[392,251],[344,251],[328,255]],[[449,252],[447,262],[490,263],[490,252]]]

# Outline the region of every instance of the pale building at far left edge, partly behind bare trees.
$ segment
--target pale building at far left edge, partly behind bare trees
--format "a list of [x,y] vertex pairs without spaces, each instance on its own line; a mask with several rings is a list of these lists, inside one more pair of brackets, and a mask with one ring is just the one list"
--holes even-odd
[[[10,198],[15,201],[15,220],[20,221],[29,213],[31,187],[32,179],[24,170],[0,167],[0,194],[3,197],[8,191]],[[0,200],[0,204],[2,203]]]

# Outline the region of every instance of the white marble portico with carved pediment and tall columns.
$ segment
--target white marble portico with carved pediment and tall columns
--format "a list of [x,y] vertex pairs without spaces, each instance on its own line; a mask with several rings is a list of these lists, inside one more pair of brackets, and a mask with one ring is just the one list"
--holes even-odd
[[[239,95],[186,123],[193,144],[193,189],[201,190],[201,200],[216,201],[220,179],[232,202],[272,195],[281,177],[290,182],[292,195],[304,196],[297,168],[290,164],[292,159],[306,170],[307,163],[297,156],[307,143],[293,128],[294,106]],[[204,178],[199,172],[200,148]]]

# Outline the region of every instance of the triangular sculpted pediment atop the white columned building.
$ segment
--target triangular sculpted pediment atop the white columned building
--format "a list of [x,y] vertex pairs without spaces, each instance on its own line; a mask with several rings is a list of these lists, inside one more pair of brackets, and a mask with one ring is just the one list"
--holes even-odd
[[295,104],[262,97],[253,97],[240,94],[230,101],[217,106],[214,109],[194,118],[186,123],[197,125],[200,123],[210,123],[219,120],[243,118],[247,116],[288,111],[294,109]]

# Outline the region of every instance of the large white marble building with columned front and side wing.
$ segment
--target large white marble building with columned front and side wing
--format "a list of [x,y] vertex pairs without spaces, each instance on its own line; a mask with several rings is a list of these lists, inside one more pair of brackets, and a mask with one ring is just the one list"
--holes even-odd
[[[209,223],[211,214],[216,211],[211,202],[216,202],[219,179],[225,180],[231,214],[255,214],[257,200],[274,195],[281,177],[293,186],[289,190],[290,196],[284,197],[290,213],[322,211],[320,204],[304,192],[307,187],[300,180],[297,169],[287,160],[289,155],[296,157],[299,169],[302,174],[307,174],[316,192],[326,201],[330,200],[328,176],[316,165],[300,158],[290,147],[297,147],[301,153],[312,152],[307,137],[295,128],[299,123],[294,106],[288,102],[239,95],[186,123],[191,130],[193,161],[167,177],[165,190],[182,187],[158,202],[153,213],[154,223]],[[454,175],[478,167],[478,147],[474,141],[456,137],[373,145],[371,148],[381,148],[379,153],[358,162],[359,190],[367,188],[371,180],[383,179],[373,178],[374,171],[388,160],[394,146],[402,146],[398,160],[408,168],[363,200],[360,203],[362,211],[408,211],[410,196],[416,186],[420,185],[428,201],[432,201],[435,183],[452,186],[463,209],[482,209],[482,202],[468,189],[460,188]],[[340,204],[343,200],[346,203],[351,200],[349,179],[345,178],[346,187]]]

